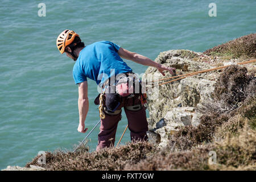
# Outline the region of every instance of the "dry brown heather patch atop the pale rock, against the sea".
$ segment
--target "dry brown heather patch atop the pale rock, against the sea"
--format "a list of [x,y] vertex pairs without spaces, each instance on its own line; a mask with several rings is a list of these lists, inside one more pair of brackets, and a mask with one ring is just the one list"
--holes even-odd
[[256,34],[242,36],[241,38],[210,48],[204,54],[208,56],[220,56],[223,59],[255,59]]

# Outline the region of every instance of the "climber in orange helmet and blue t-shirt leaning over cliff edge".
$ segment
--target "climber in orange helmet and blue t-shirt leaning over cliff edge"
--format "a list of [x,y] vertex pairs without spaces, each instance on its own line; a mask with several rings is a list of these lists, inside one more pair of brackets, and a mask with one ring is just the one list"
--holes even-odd
[[[102,110],[104,117],[101,118],[97,151],[114,145],[117,125],[121,120],[122,107],[124,107],[128,119],[131,140],[147,140],[148,124],[145,107],[141,104],[142,93],[130,93],[130,90],[133,89],[130,85],[133,84],[126,84],[127,80],[135,82],[139,79],[121,57],[135,63],[155,67],[163,76],[165,75],[163,71],[169,71],[173,75],[175,68],[165,67],[109,41],[95,42],[85,46],[79,35],[72,30],[61,32],[57,37],[56,45],[61,54],[65,52],[68,57],[76,61],[73,67],[73,78],[75,83],[79,85],[79,126],[77,128],[79,132],[85,133],[87,130],[87,128],[85,129],[85,118],[89,109],[87,78],[96,81],[102,90],[110,91],[102,94],[101,97],[104,103]],[[118,77],[118,75],[122,76]],[[133,79],[130,79],[130,76]],[[113,88],[111,79],[113,77],[116,88],[114,86],[114,92],[111,92]],[[123,82],[123,80],[125,81]],[[128,94],[125,92],[127,90],[129,91]],[[101,94],[94,101],[97,105],[100,104],[100,96]]]

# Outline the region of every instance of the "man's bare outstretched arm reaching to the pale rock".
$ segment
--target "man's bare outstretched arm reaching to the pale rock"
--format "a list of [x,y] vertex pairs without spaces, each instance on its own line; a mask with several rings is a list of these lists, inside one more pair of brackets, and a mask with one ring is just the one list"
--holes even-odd
[[120,47],[118,50],[118,55],[120,57],[122,57],[123,59],[128,59],[128,60],[134,61],[135,63],[139,63],[139,64],[146,65],[149,67],[158,68],[158,71],[160,73],[162,73],[163,76],[165,76],[165,74],[163,72],[164,70],[167,70],[171,73],[171,75],[174,75],[173,71],[175,71],[175,68],[165,67],[164,65],[156,63],[155,61],[152,61],[148,57],[140,55],[136,52],[131,52],[131,51],[128,51],[128,50]]

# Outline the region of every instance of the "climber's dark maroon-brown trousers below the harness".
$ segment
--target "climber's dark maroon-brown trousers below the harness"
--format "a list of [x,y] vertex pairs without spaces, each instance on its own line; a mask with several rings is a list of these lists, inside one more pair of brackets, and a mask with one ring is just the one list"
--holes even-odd
[[[131,111],[125,107],[138,104],[141,104],[141,101],[138,98],[133,101],[133,98],[123,97],[122,102],[117,109],[124,107],[125,114],[128,119],[128,128],[130,130],[131,140],[147,140],[146,131],[148,131],[148,123],[145,107],[142,106],[142,109],[138,111]],[[120,120],[121,113],[117,115],[109,115],[105,113],[105,119],[101,119],[97,151],[104,147],[114,146],[115,133]]]

